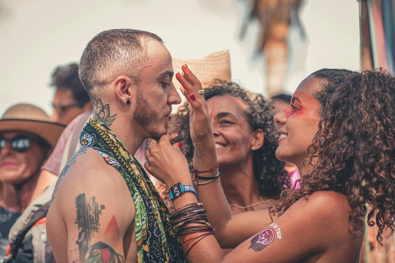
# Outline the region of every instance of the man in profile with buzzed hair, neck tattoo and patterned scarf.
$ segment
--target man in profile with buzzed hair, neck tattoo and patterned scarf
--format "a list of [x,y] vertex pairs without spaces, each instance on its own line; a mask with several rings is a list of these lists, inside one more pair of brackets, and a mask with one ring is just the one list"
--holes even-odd
[[58,178],[46,223],[57,262],[187,262],[133,157],[145,139],[167,133],[172,105],[181,103],[173,75],[155,34],[108,30],[87,44],[79,76],[93,118]]

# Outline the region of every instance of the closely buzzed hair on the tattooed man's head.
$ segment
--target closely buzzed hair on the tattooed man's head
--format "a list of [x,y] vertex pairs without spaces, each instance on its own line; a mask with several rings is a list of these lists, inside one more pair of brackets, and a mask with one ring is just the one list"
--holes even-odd
[[148,60],[146,42],[163,40],[155,34],[134,29],[112,29],[97,34],[81,56],[79,77],[91,98],[101,97],[103,87],[119,74],[139,82]]

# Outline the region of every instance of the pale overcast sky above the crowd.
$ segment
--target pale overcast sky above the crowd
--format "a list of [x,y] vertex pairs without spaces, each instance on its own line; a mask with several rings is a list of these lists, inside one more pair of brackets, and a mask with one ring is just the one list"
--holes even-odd
[[[0,20],[0,112],[23,101],[50,113],[48,82],[55,65],[78,61],[95,34],[113,28],[153,32],[175,57],[199,58],[230,49],[232,79],[248,90],[266,92],[262,67],[250,60],[257,27],[250,27],[245,41],[237,38],[242,0],[0,2],[6,6]],[[318,69],[360,69],[356,0],[310,0],[301,17],[309,42],[291,33],[294,67],[288,93]]]

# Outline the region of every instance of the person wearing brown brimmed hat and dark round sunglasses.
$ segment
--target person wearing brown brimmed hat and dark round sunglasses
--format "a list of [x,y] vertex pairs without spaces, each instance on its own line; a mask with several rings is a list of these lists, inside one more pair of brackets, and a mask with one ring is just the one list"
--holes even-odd
[[0,260],[9,231],[29,205],[41,166],[64,128],[31,104],[14,105],[0,119]]

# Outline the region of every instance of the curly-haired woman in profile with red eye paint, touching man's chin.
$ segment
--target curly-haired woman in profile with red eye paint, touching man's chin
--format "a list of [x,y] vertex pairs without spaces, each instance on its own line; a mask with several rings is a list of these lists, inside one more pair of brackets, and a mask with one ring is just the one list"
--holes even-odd
[[[198,80],[185,65],[183,71],[185,78],[176,77],[193,108],[193,163],[207,170],[217,163],[209,112]],[[274,117],[281,127],[276,156],[298,166],[301,188],[281,193],[271,223],[264,210],[232,215],[219,179],[199,185],[216,239],[199,223],[205,219],[202,205],[184,192],[173,200],[172,222],[180,215],[190,220],[186,205],[199,208],[193,224],[175,225],[189,261],[358,262],[365,216],[377,224],[379,242],[384,230],[392,234],[395,228],[394,101],[395,77],[382,71],[324,69],[302,81],[291,105]],[[188,163],[169,139],[152,145],[145,167],[169,187],[191,184]],[[201,174],[199,182],[216,173]],[[223,256],[219,245],[236,248]]]

